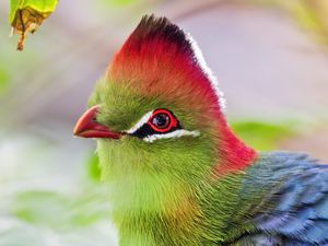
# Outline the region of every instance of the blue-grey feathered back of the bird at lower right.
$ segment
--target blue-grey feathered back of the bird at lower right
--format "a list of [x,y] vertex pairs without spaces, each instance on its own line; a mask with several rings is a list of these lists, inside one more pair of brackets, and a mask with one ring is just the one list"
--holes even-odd
[[249,230],[233,245],[328,245],[328,165],[269,152],[246,174],[241,202],[253,204],[243,213]]

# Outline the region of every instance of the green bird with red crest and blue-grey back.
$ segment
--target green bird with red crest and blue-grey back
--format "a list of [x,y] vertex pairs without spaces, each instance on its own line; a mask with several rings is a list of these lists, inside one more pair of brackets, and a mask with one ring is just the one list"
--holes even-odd
[[225,110],[190,34],[144,15],[73,129],[96,139],[120,246],[328,245],[328,165],[255,150]]

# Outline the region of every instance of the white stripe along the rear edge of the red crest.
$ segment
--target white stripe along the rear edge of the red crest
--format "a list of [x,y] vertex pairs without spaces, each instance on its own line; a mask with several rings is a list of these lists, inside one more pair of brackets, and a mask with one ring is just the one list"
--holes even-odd
[[187,39],[189,40],[189,43],[191,45],[191,48],[195,52],[195,56],[196,56],[199,67],[207,74],[207,77],[209,78],[209,80],[211,82],[212,89],[215,91],[215,94],[218,96],[218,102],[219,102],[219,105],[221,106],[221,109],[225,110],[224,95],[223,95],[223,92],[219,87],[219,82],[218,82],[216,78],[214,77],[212,70],[208,67],[208,65],[203,58],[202,51],[200,50],[196,40],[191,37],[190,34],[187,34]]

